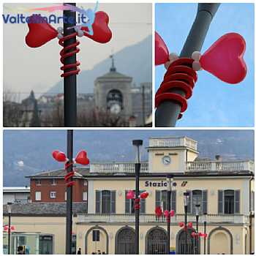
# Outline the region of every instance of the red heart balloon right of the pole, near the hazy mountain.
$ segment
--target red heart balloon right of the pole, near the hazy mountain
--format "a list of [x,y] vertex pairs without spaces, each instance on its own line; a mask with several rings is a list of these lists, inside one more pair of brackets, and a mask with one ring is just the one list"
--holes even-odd
[[[94,23],[92,24],[92,29],[94,34],[91,36],[87,33],[84,35],[93,39],[95,42],[100,42],[102,44],[109,42],[112,37],[112,32],[108,27],[108,14],[105,12],[96,12]],[[82,27],[83,31],[88,32],[89,29],[87,27]]]

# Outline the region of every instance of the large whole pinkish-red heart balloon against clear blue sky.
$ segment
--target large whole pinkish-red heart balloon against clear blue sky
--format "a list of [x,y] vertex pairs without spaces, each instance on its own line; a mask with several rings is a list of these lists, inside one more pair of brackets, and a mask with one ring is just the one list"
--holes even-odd
[[240,34],[220,37],[200,58],[201,67],[226,83],[240,83],[246,76],[246,42]]

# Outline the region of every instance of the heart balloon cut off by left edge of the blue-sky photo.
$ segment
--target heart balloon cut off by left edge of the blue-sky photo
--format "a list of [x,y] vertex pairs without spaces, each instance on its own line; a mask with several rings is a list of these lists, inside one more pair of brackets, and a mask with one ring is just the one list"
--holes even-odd
[[162,65],[169,61],[169,51],[167,49],[167,46],[165,45],[164,40],[162,39],[162,37],[159,36],[157,31],[155,31],[154,36],[154,63],[155,65]]

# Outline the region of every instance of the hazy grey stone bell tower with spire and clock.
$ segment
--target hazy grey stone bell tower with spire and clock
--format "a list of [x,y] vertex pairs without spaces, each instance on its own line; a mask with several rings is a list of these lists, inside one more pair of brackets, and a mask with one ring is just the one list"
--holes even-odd
[[94,81],[95,107],[128,119],[132,116],[132,78],[117,72],[113,55],[110,59],[110,71]]

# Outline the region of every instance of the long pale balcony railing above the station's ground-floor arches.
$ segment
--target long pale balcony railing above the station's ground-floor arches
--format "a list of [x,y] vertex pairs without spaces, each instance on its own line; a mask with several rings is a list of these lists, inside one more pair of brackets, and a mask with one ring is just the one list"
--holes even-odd
[[[232,224],[244,224],[249,223],[249,217],[245,215],[220,215],[220,214],[208,214],[207,216],[200,216],[199,223],[205,221],[210,223],[232,223]],[[170,220],[173,224],[184,222],[184,214],[176,214]],[[195,222],[195,216],[188,215],[188,222]],[[135,222],[135,214],[78,214],[78,222],[97,222],[97,223],[133,223]],[[154,214],[140,214],[141,223],[152,222],[165,222],[164,217],[157,218]]]

